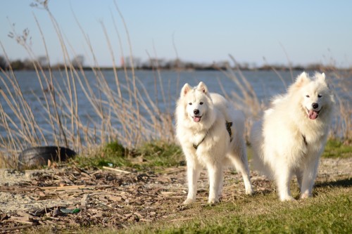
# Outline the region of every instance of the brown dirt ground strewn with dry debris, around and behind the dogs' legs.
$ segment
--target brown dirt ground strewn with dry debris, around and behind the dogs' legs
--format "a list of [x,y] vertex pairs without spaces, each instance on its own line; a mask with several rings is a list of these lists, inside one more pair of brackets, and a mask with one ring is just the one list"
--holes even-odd
[[[251,172],[257,192],[273,192],[273,185]],[[352,158],[322,159],[318,180],[334,181],[352,176]],[[206,171],[201,173],[197,199],[206,203]],[[153,171],[103,168],[85,171],[77,167],[15,171],[0,170],[0,232],[50,226],[78,228],[106,226],[126,228],[136,222],[172,219],[175,210],[187,209],[186,167]],[[225,172],[222,201],[244,196],[241,176]]]

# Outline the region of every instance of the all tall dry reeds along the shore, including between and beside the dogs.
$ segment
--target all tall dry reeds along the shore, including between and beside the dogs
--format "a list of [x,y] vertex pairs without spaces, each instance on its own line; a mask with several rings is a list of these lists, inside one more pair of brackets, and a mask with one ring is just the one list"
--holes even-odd
[[[28,30],[18,34],[13,28],[11,36],[20,46],[23,46],[32,61],[37,82],[41,88],[41,93],[32,93],[32,95],[41,106],[41,110],[34,110],[28,103],[12,67],[10,66],[6,71],[1,70],[0,127],[4,129],[6,135],[0,136],[0,166],[16,167],[18,153],[24,148],[37,145],[61,145],[86,154],[101,144],[116,140],[127,148],[134,148],[139,143],[153,139],[174,141],[173,110],[170,107],[173,106],[171,102],[177,97],[169,96],[167,98],[167,89],[163,87],[158,64],[154,64],[153,67],[155,74],[154,93],[147,90],[137,78],[133,66],[132,45],[127,30],[127,23],[118,6],[115,5],[115,13],[119,15],[124,26],[126,40],[129,44],[130,65],[132,66],[128,69],[127,67],[122,67],[124,75],[120,77],[115,61],[116,57],[124,58],[125,51],[122,49],[122,37],[116,26],[114,14],[111,12],[115,34],[118,36],[118,44],[111,42],[111,36],[108,34],[103,22],[101,22],[103,37],[105,37],[106,44],[111,52],[110,56],[113,64],[115,85],[110,86],[109,84],[111,83],[108,82],[107,77],[105,77],[99,66],[99,61],[96,59],[94,48],[75,14],[73,13],[77,27],[80,29],[84,43],[89,48],[89,56],[93,61],[90,69],[94,73],[94,85],[92,84],[92,77],[87,76],[87,71],[84,70],[82,64],[74,65],[74,61],[70,60],[71,56],[77,56],[75,48],[70,45],[69,41],[65,40],[61,27],[59,27],[54,15],[51,14],[46,1],[38,1],[38,3],[48,13],[51,25],[58,37],[63,58],[61,77],[55,77],[54,75],[46,46],[46,38],[35,15],[34,20],[37,23],[42,44],[45,48],[46,59],[49,61],[48,66],[43,67],[37,61],[37,56],[30,46]],[[10,60],[6,54],[6,49],[1,42],[0,46],[9,63]],[[120,48],[119,55],[113,53],[115,46]],[[175,48],[174,42],[173,46]],[[239,67],[237,61],[232,56],[230,58],[232,63]],[[225,93],[225,89],[223,89],[223,93],[230,100],[236,100],[234,106],[246,113],[249,119],[247,129],[250,129],[253,119],[260,117],[263,109],[265,109],[263,100],[258,100],[256,92],[241,70],[233,70],[232,67],[228,66],[226,70],[221,70],[221,72],[239,87],[240,91],[238,93]],[[287,86],[279,72],[276,70],[274,72],[277,73],[277,77],[281,79],[283,85]],[[333,129],[333,134],[334,136],[351,138],[352,106],[351,101],[346,102],[346,100],[352,100],[350,91],[351,73],[343,74],[343,72],[334,71],[332,74],[335,77],[333,89],[339,89],[339,92],[336,93],[338,100],[337,124]],[[63,79],[64,82],[60,82],[59,79]],[[125,79],[125,81],[121,82],[121,79]],[[176,89],[178,89],[178,79],[175,82],[177,84]],[[222,86],[221,82],[219,84]],[[82,107],[78,101],[78,87],[84,93],[89,104],[90,115],[87,116],[89,122],[82,121],[82,117],[79,115]],[[167,107],[163,111],[159,108],[160,103],[155,101],[158,100],[158,91],[162,92],[161,100],[163,103],[161,104]],[[122,95],[122,93],[127,93],[127,95]],[[151,93],[156,95],[156,97],[151,96]],[[341,93],[343,93],[343,96],[341,96]],[[11,115],[5,111],[5,106],[7,110],[11,110]],[[50,128],[42,129],[38,119],[44,119]]]

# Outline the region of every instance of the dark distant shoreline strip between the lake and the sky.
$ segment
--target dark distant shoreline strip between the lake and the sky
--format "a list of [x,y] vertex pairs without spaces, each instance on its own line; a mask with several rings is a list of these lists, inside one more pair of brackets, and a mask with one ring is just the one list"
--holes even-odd
[[[232,57],[231,57],[232,58]],[[0,68],[2,70],[65,70],[70,67],[74,67],[75,70],[175,70],[175,71],[206,71],[206,70],[242,70],[242,71],[303,71],[303,70],[315,70],[320,72],[329,71],[352,71],[350,67],[339,67],[334,63],[322,64],[322,63],[307,63],[306,65],[294,65],[292,63],[287,64],[264,64],[256,65],[253,63],[238,63],[232,58],[232,62],[220,61],[213,63],[196,63],[189,62],[180,59],[165,60],[151,58],[148,61],[142,61],[139,58],[121,58],[118,65],[112,66],[101,66],[101,65],[87,65],[84,63],[84,56],[76,56],[72,60],[66,61],[66,63],[50,63],[49,58],[39,56],[34,60],[7,60],[4,56],[0,55]]]

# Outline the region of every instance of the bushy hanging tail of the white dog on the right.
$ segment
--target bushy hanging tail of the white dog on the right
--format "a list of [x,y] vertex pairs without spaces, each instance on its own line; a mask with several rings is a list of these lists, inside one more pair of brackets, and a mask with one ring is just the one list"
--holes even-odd
[[272,178],[272,171],[268,164],[265,163],[265,155],[264,155],[264,137],[263,137],[263,122],[255,122],[251,129],[250,136],[251,146],[253,149],[253,160],[252,165],[253,169],[267,176],[268,178]]

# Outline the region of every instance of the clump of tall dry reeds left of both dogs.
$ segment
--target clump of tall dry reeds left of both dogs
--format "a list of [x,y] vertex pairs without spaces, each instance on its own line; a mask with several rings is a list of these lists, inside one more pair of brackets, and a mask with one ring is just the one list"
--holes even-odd
[[[31,105],[27,103],[11,66],[8,71],[1,70],[1,77],[3,77],[1,79],[1,87],[3,88],[0,89],[0,95],[4,99],[4,103],[2,101],[0,103],[0,126],[4,127],[6,131],[6,136],[0,136],[0,147],[4,149],[0,152],[1,164],[6,167],[15,167],[18,153],[24,148],[37,145],[61,145],[84,153],[97,145],[116,140],[128,148],[134,148],[139,143],[151,141],[152,139],[172,141],[174,138],[172,114],[170,112],[162,112],[158,108],[149,91],[136,77],[132,60],[132,46],[130,45],[129,50],[132,67],[130,67],[130,72],[127,72],[127,67],[124,67],[126,82],[125,85],[122,85],[115,64],[116,56],[113,53],[113,46],[116,45],[111,44],[105,25],[101,23],[106,43],[109,51],[111,51],[111,60],[113,61],[115,87],[109,86],[96,60],[93,46],[76,19],[94,60],[91,70],[94,72],[96,86],[92,86],[92,81],[88,79],[86,70],[83,69],[82,65],[74,66],[73,61],[70,61],[70,56],[72,54],[76,55],[75,50],[69,42],[65,41],[64,34],[61,32],[61,28],[54,15],[51,14],[46,2],[38,1],[38,4],[37,6],[40,6],[48,13],[60,43],[63,58],[62,77],[54,76],[46,48],[46,39],[40,22],[35,15],[34,20],[37,22],[42,44],[46,51],[46,59],[49,61],[47,67],[43,67],[37,61],[36,55],[30,46],[29,31],[25,30],[23,34],[18,34],[13,28],[11,37],[20,46],[23,46],[36,72],[37,82],[42,93],[32,93],[32,95],[37,99],[42,110],[34,111]],[[116,6],[115,10],[125,26],[125,34],[130,44],[130,36],[122,13],[120,13],[118,6]],[[120,38],[120,32],[118,32],[117,27],[115,27],[115,32]],[[119,43],[122,51],[121,40]],[[10,64],[2,44],[1,48]],[[121,53],[123,55],[123,51]],[[65,80],[63,86],[58,85],[60,84],[58,79]],[[161,82],[160,79],[155,82],[155,86],[161,86],[159,83]],[[91,106],[92,115],[88,117],[90,119],[89,124],[84,124],[78,115],[81,107],[78,105],[77,100],[77,86],[80,86]],[[122,96],[122,91],[127,92],[127,97]],[[11,117],[5,112],[4,105],[13,112]],[[142,115],[142,112],[146,114]],[[50,129],[43,130],[37,123],[38,118],[45,119]],[[49,142],[48,138],[51,138],[53,142]]]

